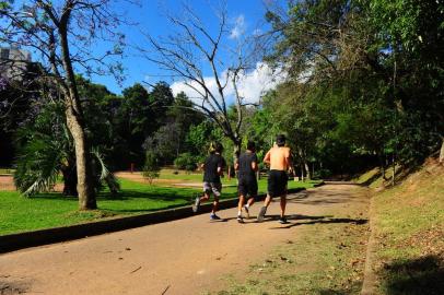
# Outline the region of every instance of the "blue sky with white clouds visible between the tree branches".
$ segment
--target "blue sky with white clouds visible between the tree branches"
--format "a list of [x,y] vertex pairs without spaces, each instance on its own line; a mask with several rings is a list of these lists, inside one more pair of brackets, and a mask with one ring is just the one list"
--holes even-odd
[[[15,7],[19,8],[23,3],[30,0],[17,0]],[[55,0],[56,5],[61,5],[65,0]],[[226,4],[227,12],[227,28],[229,34],[223,40],[223,47],[232,47],[243,37],[253,36],[257,32],[267,32],[269,24],[265,21],[265,13],[267,5],[285,7],[288,0],[131,0],[139,1],[140,5],[131,5],[128,0],[115,0],[110,1],[115,3],[113,9],[125,15],[125,20],[131,23],[137,23],[133,26],[118,27],[126,36],[126,43],[128,46],[125,48],[125,57],[119,60],[125,69],[124,82],[119,85],[112,75],[93,75],[92,82],[105,85],[109,91],[120,94],[126,87],[133,85],[135,83],[148,82],[149,84],[155,84],[159,81],[167,82],[173,90],[174,94],[184,91],[188,97],[192,99],[196,93],[190,92],[189,87],[185,85],[185,81],[177,79],[174,80],[171,73],[161,70],[156,64],[140,57],[140,51],[133,49],[133,46],[147,46],[147,39],[142,35],[141,31],[149,33],[152,37],[159,38],[162,36],[168,36],[174,34],[171,23],[166,20],[166,14],[174,14],[179,16],[183,13],[183,3],[192,8],[194,12],[200,17],[203,25],[211,35],[214,35],[214,30],[218,27],[218,19],[215,16],[217,5],[221,3]],[[33,1],[31,1],[33,3]],[[0,23],[1,25],[1,23]],[[26,49],[26,48],[25,48]],[[38,60],[40,55],[36,54],[32,48],[27,48],[33,54],[33,59]],[[106,50],[109,50],[109,44],[97,40],[95,45],[90,48],[81,48],[81,50],[91,51],[94,56],[102,56]],[[71,50],[74,51],[74,50]],[[226,60],[225,60],[226,59]],[[219,74],[226,72],[226,66],[229,63],[229,55],[222,54],[220,60],[225,63],[218,69]],[[203,63],[202,63],[203,64]],[[273,87],[280,80],[272,79],[270,69],[257,60],[256,63],[250,64],[249,71],[242,73],[242,81],[237,85],[239,93],[245,101],[253,103],[257,102],[261,94],[269,88]],[[210,71],[203,67],[205,80],[209,85],[213,86],[215,91],[215,82],[211,76]],[[78,68],[80,69],[80,68]],[[82,72],[80,72],[82,73]],[[148,84],[145,84],[148,85]],[[226,96],[233,98],[233,87],[227,87]]]

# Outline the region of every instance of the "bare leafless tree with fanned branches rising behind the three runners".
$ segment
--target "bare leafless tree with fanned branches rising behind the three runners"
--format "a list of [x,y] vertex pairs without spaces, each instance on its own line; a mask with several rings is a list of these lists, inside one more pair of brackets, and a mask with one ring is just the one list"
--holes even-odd
[[[163,37],[144,34],[148,46],[139,49],[147,60],[168,71],[196,94],[190,97],[194,108],[213,120],[239,151],[244,107],[249,104],[238,85],[257,59],[243,32],[231,30],[226,7],[222,4],[213,11],[218,24],[210,30],[189,5],[183,4],[180,16],[166,15],[174,32]],[[229,38],[230,44],[236,45],[229,46]],[[231,99],[234,120],[230,118]]]

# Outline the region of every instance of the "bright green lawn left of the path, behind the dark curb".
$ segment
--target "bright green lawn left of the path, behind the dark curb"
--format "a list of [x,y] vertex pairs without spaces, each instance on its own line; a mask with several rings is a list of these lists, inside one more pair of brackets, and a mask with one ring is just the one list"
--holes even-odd
[[[226,184],[225,179],[223,182]],[[150,186],[127,179],[120,179],[120,184],[121,192],[117,197],[113,198],[108,192],[101,193],[97,197],[100,210],[90,212],[78,211],[78,199],[67,198],[60,193],[42,193],[24,198],[16,191],[0,191],[0,235],[188,205],[194,197],[201,192],[200,188]],[[235,185],[235,179],[230,184]],[[316,181],[290,181],[289,188],[308,188],[314,184]],[[265,192],[266,187],[266,180],[260,180],[259,192]],[[235,197],[235,186],[222,190],[222,199]]]

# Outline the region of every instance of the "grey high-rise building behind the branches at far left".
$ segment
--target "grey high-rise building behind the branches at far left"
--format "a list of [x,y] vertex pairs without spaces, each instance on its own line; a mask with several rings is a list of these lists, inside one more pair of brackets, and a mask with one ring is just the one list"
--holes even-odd
[[0,76],[20,80],[31,62],[31,52],[16,47],[0,48]]

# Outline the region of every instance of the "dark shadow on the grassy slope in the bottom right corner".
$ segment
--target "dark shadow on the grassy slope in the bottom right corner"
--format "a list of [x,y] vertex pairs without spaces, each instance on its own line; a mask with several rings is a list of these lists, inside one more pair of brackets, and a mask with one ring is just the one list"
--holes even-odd
[[394,261],[379,275],[387,294],[444,294],[444,259],[439,256]]

